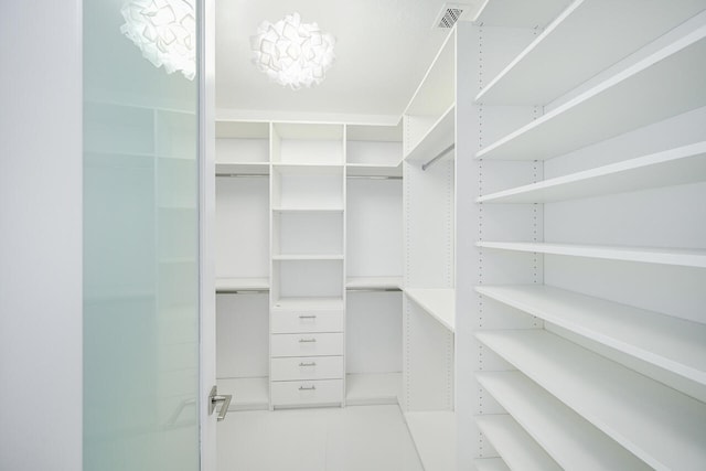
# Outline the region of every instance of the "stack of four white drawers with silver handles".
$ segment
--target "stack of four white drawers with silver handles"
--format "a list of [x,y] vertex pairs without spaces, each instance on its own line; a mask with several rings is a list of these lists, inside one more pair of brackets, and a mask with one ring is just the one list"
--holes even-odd
[[272,307],[272,407],[343,404],[343,312],[342,303],[335,309],[285,301]]

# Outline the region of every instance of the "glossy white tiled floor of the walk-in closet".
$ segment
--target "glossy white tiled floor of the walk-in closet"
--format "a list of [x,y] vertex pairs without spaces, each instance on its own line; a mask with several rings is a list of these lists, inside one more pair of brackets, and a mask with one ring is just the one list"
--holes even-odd
[[398,406],[228,413],[218,471],[422,471]]

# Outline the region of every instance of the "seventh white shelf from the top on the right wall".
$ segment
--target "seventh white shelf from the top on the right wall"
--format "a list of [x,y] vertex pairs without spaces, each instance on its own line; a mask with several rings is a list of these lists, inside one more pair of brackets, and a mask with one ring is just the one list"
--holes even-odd
[[575,463],[591,470],[651,469],[522,373],[475,377],[563,469]]

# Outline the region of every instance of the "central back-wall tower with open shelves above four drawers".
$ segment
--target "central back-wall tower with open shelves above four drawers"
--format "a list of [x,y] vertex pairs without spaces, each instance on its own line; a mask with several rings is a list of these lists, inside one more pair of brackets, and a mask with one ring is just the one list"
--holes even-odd
[[345,404],[344,131],[271,125],[271,408]]

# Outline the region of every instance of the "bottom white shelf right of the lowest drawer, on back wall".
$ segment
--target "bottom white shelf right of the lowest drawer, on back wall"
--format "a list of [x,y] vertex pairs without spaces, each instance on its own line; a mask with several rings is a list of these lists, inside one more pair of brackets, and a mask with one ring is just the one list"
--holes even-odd
[[345,375],[345,387],[349,406],[397,404],[402,394],[402,373],[350,373]]

